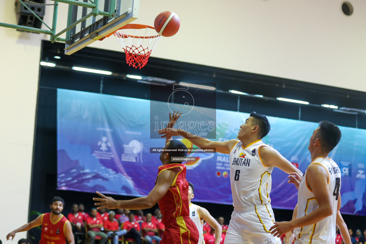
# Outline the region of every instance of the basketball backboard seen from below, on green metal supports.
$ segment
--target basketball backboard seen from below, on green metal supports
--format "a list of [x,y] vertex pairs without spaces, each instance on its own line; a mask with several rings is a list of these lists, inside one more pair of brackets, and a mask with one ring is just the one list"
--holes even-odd
[[67,26],[79,23],[66,33],[65,54],[70,55],[138,18],[140,0],[94,0],[96,2],[97,16],[92,15],[92,8],[69,5]]

